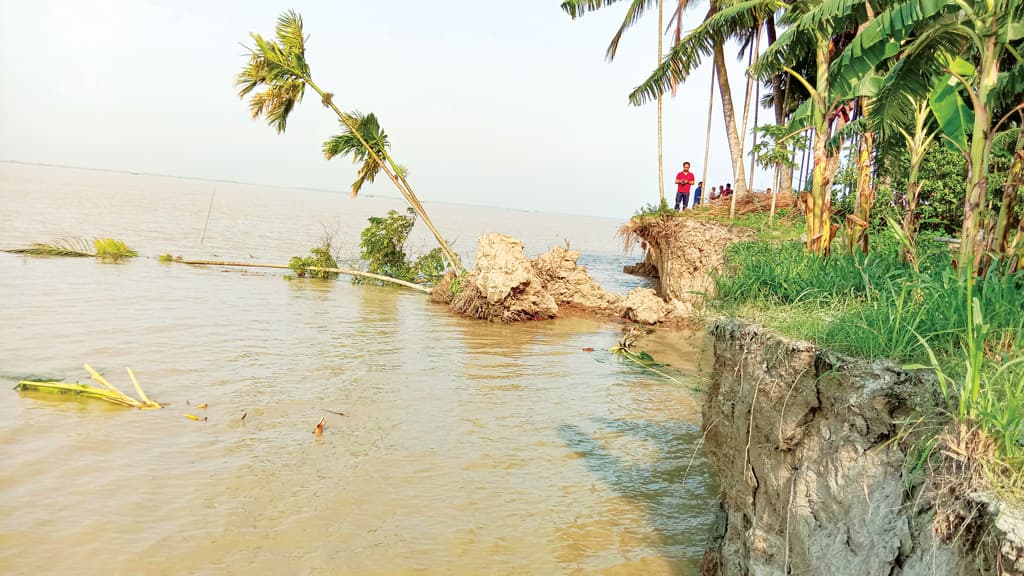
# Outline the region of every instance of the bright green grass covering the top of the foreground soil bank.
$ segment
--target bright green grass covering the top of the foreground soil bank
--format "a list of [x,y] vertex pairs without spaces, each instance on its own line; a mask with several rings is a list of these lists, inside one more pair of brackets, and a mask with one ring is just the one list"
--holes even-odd
[[937,412],[993,441],[989,475],[1020,497],[1024,273],[993,266],[968,282],[939,243],[919,242],[921,272],[898,261],[891,239],[871,248],[866,256],[821,258],[796,242],[735,244],[713,306],[850,356],[934,370],[943,399]]

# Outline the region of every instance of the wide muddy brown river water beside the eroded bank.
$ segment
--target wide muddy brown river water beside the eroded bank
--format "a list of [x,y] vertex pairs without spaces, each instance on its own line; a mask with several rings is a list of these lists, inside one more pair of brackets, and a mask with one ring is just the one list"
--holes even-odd
[[[74,230],[122,238],[143,255],[207,255],[190,239],[193,204],[202,213],[209,199],[199,183],[141,179],[129,190],[119,177],[40,170],[0,165],[0,201],[15,206],[0,212],[0,244]],[[287,259],[307,243],[294,222],[339,201],[257,190],[247,205],[244,192],[232,193],[234,219],[211,221],[216,253]],[[438,222],[453,217],[447,208],[472,213],[431,207]],[[551,222],[535,216],[506,232],[544,237]],[[360,217],[343,228],[357,230]],[[616,261],[613,222],[559,219],[592,260]],[[687,469],[697,399],[603,352],[616,326],[493,325],[398,289],[150,258],[0,254],[0,388],[28,375],[80,379],[89,362],[117,383],[131,366],[170,404],[138,412],[0,393],[3,574],[698,566],[715,487],[699,457]],[[690,340],[665,335],[657,345],[659,360],[692,379]],[[208,420],[185,419],[200,403]]]

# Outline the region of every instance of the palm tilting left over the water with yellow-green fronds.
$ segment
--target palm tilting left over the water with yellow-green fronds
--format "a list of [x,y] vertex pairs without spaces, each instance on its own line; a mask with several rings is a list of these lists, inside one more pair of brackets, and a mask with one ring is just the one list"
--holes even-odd
[[[346,130],[343,135],[350,137],[348,142],[350,146],[337,149],[330,148],[337,136],[332,138],[324,147],[325,154],[329,158],[350,154],[357,162],[362,162],[362,166],[359,168],[359,177],[352,188],[352,194],[358,194],[362,184],[373,181],[374,176],[379,171],[384,172],[420,216],[423,223],[427,225],[430,233],[434,235],[452,268],[456,272],[463,271],[459,256],[452,250],[430,217],[427,216],[426,210],[416,194],[413,193],[413,188],[406,179],[402,170],[387,152],[387,137],[380,130],[376,117],[343,112],[334,102],[333,93],[321,89],[313,83],[305,57],[306,38],[302,33],[302,16],[294,10],[289,10],[278,16],[274,36],[275,39],[264,39],[259,34],[250,34],[254,45],[247,46],[249,61],[234,80],[236,85],[239,86],[239,96],[245,97],[252,93],[249,97],[249,110],[252,112],[253,118],[263,117],[270,127],[279,133],[284,132],[288,127],[288,116],[294,110],[295,105],[302,100],[306,88],[316,92],[321,97],[321,102],[338,116],[338,120]],[[260,87],[264,90],[255,91]],[[370,129],[369,124],[360,126],[360,122],[368,122],[369,118],[373,118],[373,125],[377,127],[376,131]],[[379,136],[383,136],[383,139]]]

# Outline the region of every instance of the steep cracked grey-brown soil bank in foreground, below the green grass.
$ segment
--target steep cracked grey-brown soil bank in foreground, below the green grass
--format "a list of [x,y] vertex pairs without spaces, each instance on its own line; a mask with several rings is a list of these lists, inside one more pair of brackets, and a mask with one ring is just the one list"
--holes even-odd
[[931,383],[735,321],[711,333],[702,426],[722,511],[706,574],[1024,574],[1019,517],[979,503],[944,541],[928,480],[904,474],[901,422]]

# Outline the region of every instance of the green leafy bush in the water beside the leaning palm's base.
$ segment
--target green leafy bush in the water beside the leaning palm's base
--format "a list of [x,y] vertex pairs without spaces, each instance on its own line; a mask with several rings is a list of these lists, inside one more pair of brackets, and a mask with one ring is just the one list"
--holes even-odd
[[[367,262],[367,272],[421,284],[436,284],[444,275],[444,251],[440,247],[409,261],[406,241],[416,224],[412,208],[407,208],[406,214],[389,210],[386,216],[371,216],[369,221],[359,235],[360,257]],[[373,282],[359,277],[352,281]]]

